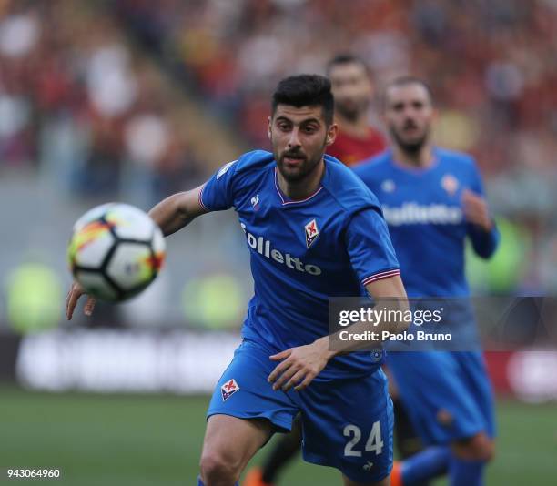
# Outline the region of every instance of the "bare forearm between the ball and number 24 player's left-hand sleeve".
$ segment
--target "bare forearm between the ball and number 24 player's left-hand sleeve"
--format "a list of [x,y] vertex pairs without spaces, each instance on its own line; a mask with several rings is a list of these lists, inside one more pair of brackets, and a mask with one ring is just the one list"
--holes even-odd
[[202,187],[178,192],[163,199],[149,211],[149,216],[153,218],[166,237],[187,226],[197,216],[208,212],[207,208],[201,206],[199,202]]

